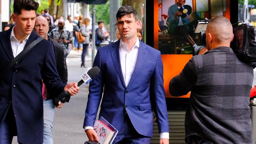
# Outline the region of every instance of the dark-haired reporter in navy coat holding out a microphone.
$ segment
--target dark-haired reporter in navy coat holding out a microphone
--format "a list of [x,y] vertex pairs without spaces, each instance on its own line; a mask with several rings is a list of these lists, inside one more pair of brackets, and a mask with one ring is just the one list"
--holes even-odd
[[[14,0],[12,18],[16,25],[0,33],[0,69],[40,36],[33,31],[39,4],[34,0]],[[0,144],[10,144],[18,136],[22,144],[43,143],[42,79],[58,96],[63,90],[78,92],[77,83],[61,82],[56,70],[51,42],[39,42],[0,79]]]

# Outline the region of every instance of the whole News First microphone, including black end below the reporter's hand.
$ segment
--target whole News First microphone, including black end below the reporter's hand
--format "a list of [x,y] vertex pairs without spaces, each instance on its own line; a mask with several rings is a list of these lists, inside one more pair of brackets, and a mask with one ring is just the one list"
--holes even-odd
[[[100,69],[98,68],[98,66],[94,66],[93,68],[91,68],[90,70],[88,70],[88,72],[83,73],[81,76],[81,80],[78,82],[78,87],[80,85],[82,85],[84,82],[87,84],[89,82],[92,81],[92,77],[96,76],[98,73],[100,72]],[[61,94],[59,94],[58,96],[59,101],[61,103],[65,103],[65,102],[69,102],[70,99],[70,94],[66,91],[63,91]]]

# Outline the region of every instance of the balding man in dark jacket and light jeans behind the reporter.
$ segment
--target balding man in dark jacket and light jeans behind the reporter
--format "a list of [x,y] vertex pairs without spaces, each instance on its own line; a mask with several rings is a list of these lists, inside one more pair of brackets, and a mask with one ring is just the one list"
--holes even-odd
[[[38,16],[35,18],[35,32],[43,37],[44,39],[50,41],[54,46],[55,62],[59,78],[64,84],[68,81],[68,71],[67,64],[64,57],[64,50],[62,46],[51,39],[47,34],[50,26],[48,25],[47,19],[43,16]],[[52,138],[52,127],[56,108],[61,108],[63,103],[59,102],[58,98],[55,98],[53,92],[48,92],[46,90],[45,84],[43,84],[42,89],[43,103],[44,103],[44,144],[53,144]]]

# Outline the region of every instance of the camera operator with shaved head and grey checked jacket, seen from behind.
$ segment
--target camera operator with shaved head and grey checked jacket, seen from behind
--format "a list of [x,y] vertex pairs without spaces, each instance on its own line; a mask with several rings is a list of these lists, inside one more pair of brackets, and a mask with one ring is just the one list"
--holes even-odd
[[253,70],[230,48],[232,31],[227,18],[213,18],[206,28],[208,52],[193,56],[169,83],[173,96],[191,91],[185,118],[188,144],[252,143],[249,94]]

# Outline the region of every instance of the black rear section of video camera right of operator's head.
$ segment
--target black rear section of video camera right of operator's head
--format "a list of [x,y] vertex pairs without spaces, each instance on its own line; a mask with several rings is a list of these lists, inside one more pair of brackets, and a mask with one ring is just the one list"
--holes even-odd
[[256,62],[256,29],[247,24],[233,24],[234,39],[230,47],[237,57],[246,62]]

